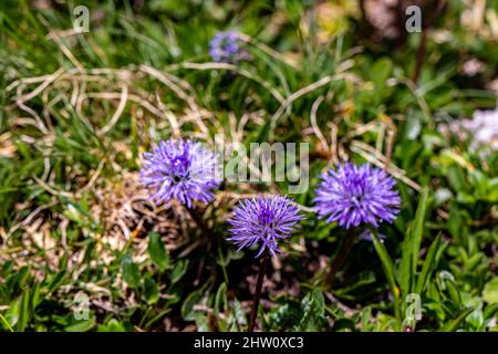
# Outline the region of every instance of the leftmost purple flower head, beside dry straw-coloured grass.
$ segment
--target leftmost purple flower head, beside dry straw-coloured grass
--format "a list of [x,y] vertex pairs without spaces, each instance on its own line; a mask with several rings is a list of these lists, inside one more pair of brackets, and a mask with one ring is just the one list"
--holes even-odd
[[194,200],[214,199],[214,189],[220,184],[216,168],[215,153],[201,143],[170,138],[144,154],[139,176],[156,205],[175,199],[190,208]]

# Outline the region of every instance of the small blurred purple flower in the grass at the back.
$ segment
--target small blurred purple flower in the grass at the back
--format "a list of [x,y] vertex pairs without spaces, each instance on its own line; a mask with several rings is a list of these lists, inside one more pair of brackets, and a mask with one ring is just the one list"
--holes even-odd
[[237,32],[218,32],[209,43],[209,55],[215,62],[236,64],[247,58],[247,53],[240,43]]

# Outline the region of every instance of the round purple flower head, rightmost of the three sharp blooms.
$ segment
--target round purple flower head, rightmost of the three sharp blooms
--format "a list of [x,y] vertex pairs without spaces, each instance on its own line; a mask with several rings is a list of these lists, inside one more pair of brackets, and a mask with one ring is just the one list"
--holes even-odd
[[400,212],[401,198],[393,187],[395,180],[383,169],[370,164],[338,165],[322,175],[314,198],[315,210],[326,221],[339,221],[349,229],[360,223],[378,227],[392,222]]

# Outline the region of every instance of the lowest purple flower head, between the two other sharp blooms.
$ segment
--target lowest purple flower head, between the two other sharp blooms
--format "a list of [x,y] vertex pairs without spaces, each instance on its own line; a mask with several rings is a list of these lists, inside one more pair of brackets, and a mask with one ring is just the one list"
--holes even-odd
[[256,257],[268,250],[271,256],[280,253],[278,240],[287,239],[302,219],[299,207],[287,197],[262,197],[245,199],[234,210],[231,237],[240,251],[245,247],[259,244]]

